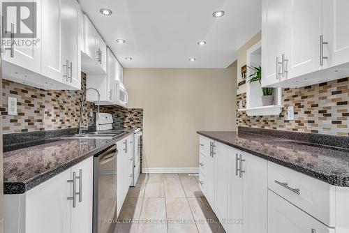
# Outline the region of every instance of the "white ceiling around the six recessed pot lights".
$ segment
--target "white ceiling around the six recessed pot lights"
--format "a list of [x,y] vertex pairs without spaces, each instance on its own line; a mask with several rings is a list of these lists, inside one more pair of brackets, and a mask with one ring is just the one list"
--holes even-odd
[[[261,0],[80,0],[128,68],[226,68],[261,28]],[[112,15],[103,16],[101,8]],[[212,17],[224,10],[220,18]],[[125,44],[115,40],[123,38]],[[207,45],[199,46],[199,40]],[[126,61],[125,57],[132,57]],[[188,61],[195,57],[196,61]]]

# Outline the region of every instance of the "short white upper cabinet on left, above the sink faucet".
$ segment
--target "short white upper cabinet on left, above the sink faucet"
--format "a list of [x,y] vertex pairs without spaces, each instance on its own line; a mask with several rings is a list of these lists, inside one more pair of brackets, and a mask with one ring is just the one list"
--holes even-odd
[[87,15],[84,15],[84,49],[82,71],[84,73],[107,73],[107,45]]

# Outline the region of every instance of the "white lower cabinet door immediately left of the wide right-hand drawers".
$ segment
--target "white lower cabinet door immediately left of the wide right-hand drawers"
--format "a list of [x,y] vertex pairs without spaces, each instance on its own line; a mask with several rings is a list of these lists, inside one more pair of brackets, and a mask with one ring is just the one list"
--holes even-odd
[[267,233],[267,160],[242,155],[242,200],[244,233]]

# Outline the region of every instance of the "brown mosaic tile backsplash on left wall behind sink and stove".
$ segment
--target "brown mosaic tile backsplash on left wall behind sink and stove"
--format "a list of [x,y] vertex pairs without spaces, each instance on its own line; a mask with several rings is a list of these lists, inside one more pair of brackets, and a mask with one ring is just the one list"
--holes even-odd
[[[3,119],[3,133],[21,133],[38,130],[77,128],[80,115],[80,100],[86,89],[86,75],[82,73],[82,90],[50,91],[24,84],[2,80],[3,106],[0,112]],[[8,115],[7,97],[17,98],[17,116]],[[84,102],[84,110],[97,107]],[[142,110],[124,107],[101,107],[101,112],[113,113],[115,127],[142,128]],[[94,117],[84,112],[83,123],[94,125]]]

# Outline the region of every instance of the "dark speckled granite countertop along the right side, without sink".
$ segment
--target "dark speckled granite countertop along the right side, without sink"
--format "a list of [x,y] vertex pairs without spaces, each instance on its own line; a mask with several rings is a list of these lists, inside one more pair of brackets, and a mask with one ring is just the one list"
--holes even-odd
[[[248,132],[198,131],[199,135],[302,172],[334,186],[349,187],[349,148]],[[304,134],[306,135],[306,134]],[[312,135],[311,137],[316,137]],[[323,135],[319,137],[324,137]],[[332,137],[341,141],[339,137]],[[322,138],[323,139],[323,138]],[[331,138],[329,139],[329,141]],[[342,138],[346,145],[347,139]]]

